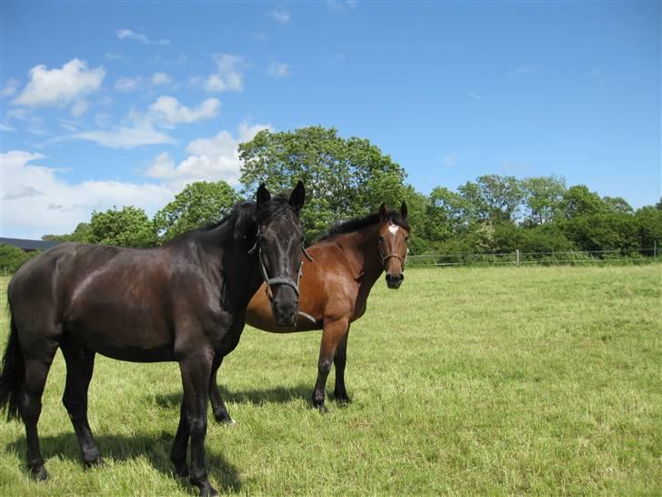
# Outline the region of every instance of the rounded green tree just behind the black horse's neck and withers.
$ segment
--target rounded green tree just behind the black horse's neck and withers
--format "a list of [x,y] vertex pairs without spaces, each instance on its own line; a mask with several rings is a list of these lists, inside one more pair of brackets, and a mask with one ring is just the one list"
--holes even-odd
[[156,212],[155,229],[164,241],[216,222],[239,200],[225,181],[196,181],[186,185],[165,208]]

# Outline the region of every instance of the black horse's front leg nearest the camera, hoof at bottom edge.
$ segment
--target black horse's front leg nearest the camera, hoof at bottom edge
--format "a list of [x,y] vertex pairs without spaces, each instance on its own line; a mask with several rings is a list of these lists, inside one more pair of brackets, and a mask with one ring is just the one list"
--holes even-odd
[[[205,436],[206,436],[206,405],[209,391],[209,378],[212,370],[213,354],[199,350],[195,356],[186,356],[179,361],[182,372],[182,385],[184,387],[184,407],[181,415],[186,414],[186,424],[191,438],[191,465],[189,479],[200,489],[201,497],[218,495],[207,479],[205,467]],[[180,428],[183,421],[179,421]],[[186,429],[186,428],[185,428]],[[177,434],[180,435],[179,430]],[[176,438],[176,443],[178,441]],[[181,450],[181,446],[180,446]],[[176,451],[176,446],[173,447]],[[186,446],[185,446],[186,454]]]

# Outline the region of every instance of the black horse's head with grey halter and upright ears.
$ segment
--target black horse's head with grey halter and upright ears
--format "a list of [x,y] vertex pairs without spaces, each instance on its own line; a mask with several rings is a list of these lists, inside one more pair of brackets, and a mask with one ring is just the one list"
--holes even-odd
[[254,249],[278,326],[293,326],[296,322],[304,247],[299,211],[305,200],[306,188],[301,181],[288,199],[271,198],[264,183],[257,188]]

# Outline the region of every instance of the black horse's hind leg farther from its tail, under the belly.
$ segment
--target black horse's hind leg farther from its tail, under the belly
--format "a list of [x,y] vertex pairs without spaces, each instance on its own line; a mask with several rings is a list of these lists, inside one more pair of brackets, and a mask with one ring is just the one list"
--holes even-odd
[[74,425],[75,435],[83,453],[83,461],[87,466],[98,466],[104,461],[101,459],[101,452],[96,447],[87,421],[87,388],[95,368],[95,353],[82,349],[75,350],[66,343],[62,344],[61,349],[66,361],[66,386],[62,403],[65,404]]

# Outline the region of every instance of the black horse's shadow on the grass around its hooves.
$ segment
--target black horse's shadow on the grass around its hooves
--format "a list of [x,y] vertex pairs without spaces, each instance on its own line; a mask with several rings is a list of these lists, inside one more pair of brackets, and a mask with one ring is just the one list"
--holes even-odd
[[[85,468],[81,458],[80,448],[75,433],[60,433],[55,436],[39,438],[42,454],[47,459],[59,456],[78,462],[81,470]],[[148,436],[124,436],[105,435],[95,437],[96,444],[101,451],[105,461],[127,461],[145,457],[158,472],[175,478],[174,466],[170,462],[170,449],[174,441],[174,435],[161,433],[153,437]],[[25,437],[21,437],[6,445],[7,451],[15,451],[25,461]],[[226,461],[222,455],[214,451],[206,451],[207,468],[209,475],[216,482],[219,491],[234,492],[241,491],[241,481],[236,466]],[[46,462],[46,470],[48,464]],[[103,471],[100,469],[99,471]],[[183,486],[189,486],[188,479],[180,481]],[[197,490],[195,487],[191,487]]]

